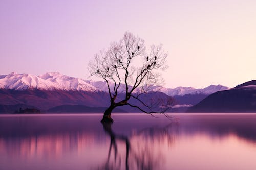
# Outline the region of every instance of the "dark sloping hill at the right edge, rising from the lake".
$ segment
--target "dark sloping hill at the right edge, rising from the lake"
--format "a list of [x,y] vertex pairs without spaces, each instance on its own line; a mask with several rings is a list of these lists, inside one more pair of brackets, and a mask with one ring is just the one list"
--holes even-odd
[[188,112],[256,112],[256,80],[211,94]]

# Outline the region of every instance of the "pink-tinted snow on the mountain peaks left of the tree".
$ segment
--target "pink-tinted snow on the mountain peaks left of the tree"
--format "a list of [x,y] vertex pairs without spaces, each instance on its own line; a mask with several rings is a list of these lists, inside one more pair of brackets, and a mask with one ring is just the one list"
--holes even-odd
[[98,88],[82,79],[61,75],[58,72],[50,72],[40,76],[17,74],[16,72],[12,72],[9,75],[1,75],[0,88],[99,91]]

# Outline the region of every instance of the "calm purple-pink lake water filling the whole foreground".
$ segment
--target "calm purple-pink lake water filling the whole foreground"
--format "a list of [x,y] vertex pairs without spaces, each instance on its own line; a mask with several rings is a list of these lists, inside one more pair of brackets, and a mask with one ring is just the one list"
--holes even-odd
[[1,115],[0,169],[256,169],[256,114]]

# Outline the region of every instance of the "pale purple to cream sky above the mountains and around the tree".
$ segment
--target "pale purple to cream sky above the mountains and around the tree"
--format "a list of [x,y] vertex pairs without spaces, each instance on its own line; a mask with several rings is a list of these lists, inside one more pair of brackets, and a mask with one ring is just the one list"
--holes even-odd
[[0,1],[0,74],[87,64],[125,31],[162,43],[166,87],[233,87],[256,79],[256,1]]

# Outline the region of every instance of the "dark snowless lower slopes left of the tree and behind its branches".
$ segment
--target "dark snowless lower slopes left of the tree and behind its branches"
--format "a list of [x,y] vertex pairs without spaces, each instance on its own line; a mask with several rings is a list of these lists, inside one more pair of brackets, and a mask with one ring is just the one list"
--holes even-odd
[[[124,96],[125,94],[120,94],[117,101]],[[159,102],[159,99],[165,102],[169,98],[162,92],[149,92],[140,95],[140,99],[150,105],[152,102]],[[138,100],[131,98],[130,102],[143,108],[143,104]],[[0,113],[13,113],[19,110],[20,106],[36,108],[42,113],[103,113],[109,105],[109,94],[102,91],[0,89]],[[161,108],[160,103],[156,109],[159,108]],[[129,106],[116,108],[114,112],[139,112],[139,110]]]

